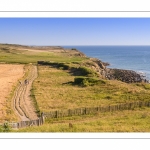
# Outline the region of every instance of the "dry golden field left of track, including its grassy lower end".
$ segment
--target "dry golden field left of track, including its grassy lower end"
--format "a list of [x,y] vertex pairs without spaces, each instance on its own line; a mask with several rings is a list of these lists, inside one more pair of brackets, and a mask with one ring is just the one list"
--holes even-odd
[[0,122],[15,120],[11,106],[14,86],[24,75],[24,65],[0,64]]

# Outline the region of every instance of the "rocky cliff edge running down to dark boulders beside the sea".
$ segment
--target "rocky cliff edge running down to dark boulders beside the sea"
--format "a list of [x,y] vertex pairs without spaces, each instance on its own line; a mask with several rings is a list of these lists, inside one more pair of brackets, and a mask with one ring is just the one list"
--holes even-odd
[[102,71],[99,71],[103,78],[108,80],[120,80],[126,83],[150,83],[150,80],[144,75],[145,73],[141,73],[135,70],[128,70],[128,69],[118,69],[118,68],[108,68],[107,66],[110,65],[109,62],[103,62],[98,58],[86,56],[85,53],[77,50],[76,48],[72,48],[70,50],[76,50],[79,52],[78,56],[87,57],[90,60],[96,62]]

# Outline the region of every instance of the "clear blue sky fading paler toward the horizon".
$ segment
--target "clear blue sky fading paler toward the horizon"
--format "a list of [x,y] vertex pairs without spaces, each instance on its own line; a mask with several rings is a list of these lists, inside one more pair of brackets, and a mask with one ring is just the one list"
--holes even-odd
[[0,43],[150,45],[150,18],[0,18]]

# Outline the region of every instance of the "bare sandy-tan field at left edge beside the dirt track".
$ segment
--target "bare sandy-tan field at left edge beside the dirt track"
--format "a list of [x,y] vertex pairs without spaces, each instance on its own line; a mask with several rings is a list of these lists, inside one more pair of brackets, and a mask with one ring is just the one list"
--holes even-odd
[[24,75],[24,65],[0,64],[0,117],[6,115],[5,107],[12,86]]

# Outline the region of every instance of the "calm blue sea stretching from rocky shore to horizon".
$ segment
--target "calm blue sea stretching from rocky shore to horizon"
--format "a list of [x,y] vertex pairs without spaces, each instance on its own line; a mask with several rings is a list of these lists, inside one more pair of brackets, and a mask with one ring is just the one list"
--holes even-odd
[[88,57],[98,58],[107,68],[133,70],[150,80],[150,46],[63,46],[75,48]]

